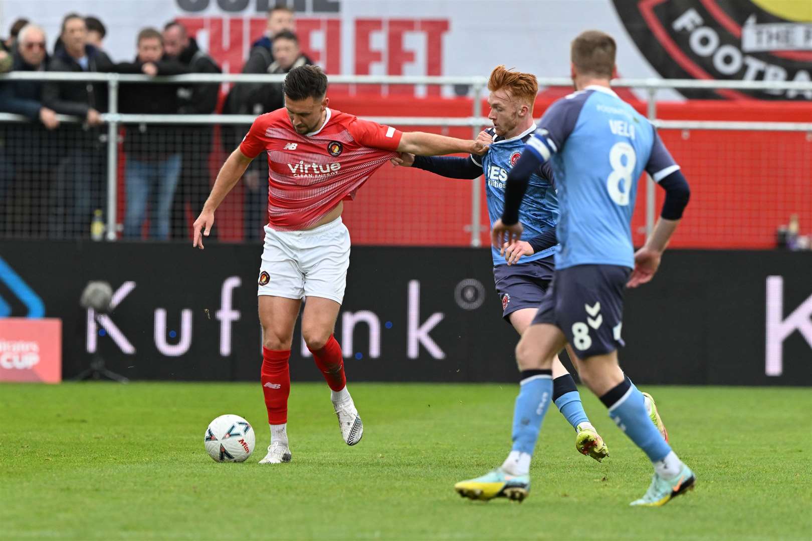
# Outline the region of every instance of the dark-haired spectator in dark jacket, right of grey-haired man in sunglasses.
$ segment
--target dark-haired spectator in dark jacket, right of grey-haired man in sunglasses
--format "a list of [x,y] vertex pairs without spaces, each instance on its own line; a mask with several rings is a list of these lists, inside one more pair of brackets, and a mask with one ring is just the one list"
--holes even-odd
[[[54,48],[49,71],[76,73],[110,71],[106,57],[88,45],[84,19],[65,16],[62,33]],[[58,204],[53,213],[53,234],[61,237],[89,236],[93,210],[104,208],[106,146],[102,141],[100,111],[106,110],[106,85],[80,81],[50,81],[42,89],[42,103],[60,114],[84,119],[81,125],[65,124],[64,155],[59,162],[55,191]]]

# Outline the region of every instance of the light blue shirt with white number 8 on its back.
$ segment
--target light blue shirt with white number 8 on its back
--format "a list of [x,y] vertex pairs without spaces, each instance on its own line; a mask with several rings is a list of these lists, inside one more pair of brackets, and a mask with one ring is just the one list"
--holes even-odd
[[633,268],[637,180],[643,170],[659,182],[680,169],[648,119],[611,89],[589,86],[555,101],[526,148],[549,160],[555,174],[560,208],[555,268]]

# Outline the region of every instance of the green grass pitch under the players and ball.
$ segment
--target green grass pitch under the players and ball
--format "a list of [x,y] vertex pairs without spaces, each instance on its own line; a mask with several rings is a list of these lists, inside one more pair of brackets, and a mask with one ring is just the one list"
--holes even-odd
[[[810,539],[810,389],[641,388],[698,474],[659,509],[628,507],[650,464],[585,389],[611,456],[578,454],[552,406],[516,504],[452,490],[503,460],[516,385],[351,383],[365,426],[351,448],[326,385],[294,383],[293,461],[259,466],[258,384],[2,384],[0,538]],[[248,462],[205,453],[224,413],[256,429]]]

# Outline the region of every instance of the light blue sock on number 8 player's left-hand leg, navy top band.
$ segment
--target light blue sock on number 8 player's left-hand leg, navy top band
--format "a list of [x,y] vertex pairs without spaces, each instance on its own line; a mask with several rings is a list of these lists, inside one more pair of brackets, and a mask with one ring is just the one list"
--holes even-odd
[[524,370],[520,376],[519,396],[513,407],[512,450],[532,455],[544,414],[551,402],[552,371]]

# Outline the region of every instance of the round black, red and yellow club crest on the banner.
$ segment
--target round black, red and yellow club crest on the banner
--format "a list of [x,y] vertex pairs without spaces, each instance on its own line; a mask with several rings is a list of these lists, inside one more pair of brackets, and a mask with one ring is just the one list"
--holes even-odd
[[[812,79],[812,0],[612,0],[669,79]],[[691,98],[812,100],[812,91],[680,90]]]

